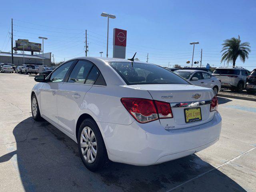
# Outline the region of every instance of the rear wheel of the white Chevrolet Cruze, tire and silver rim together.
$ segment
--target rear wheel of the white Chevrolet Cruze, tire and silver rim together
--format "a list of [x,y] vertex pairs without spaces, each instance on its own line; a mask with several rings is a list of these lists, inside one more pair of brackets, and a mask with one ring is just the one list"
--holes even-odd
[[92,119],[85,119],[78,132],[78,150],[82,162],[90,171],[103,168],[108,155],[100,130]]

